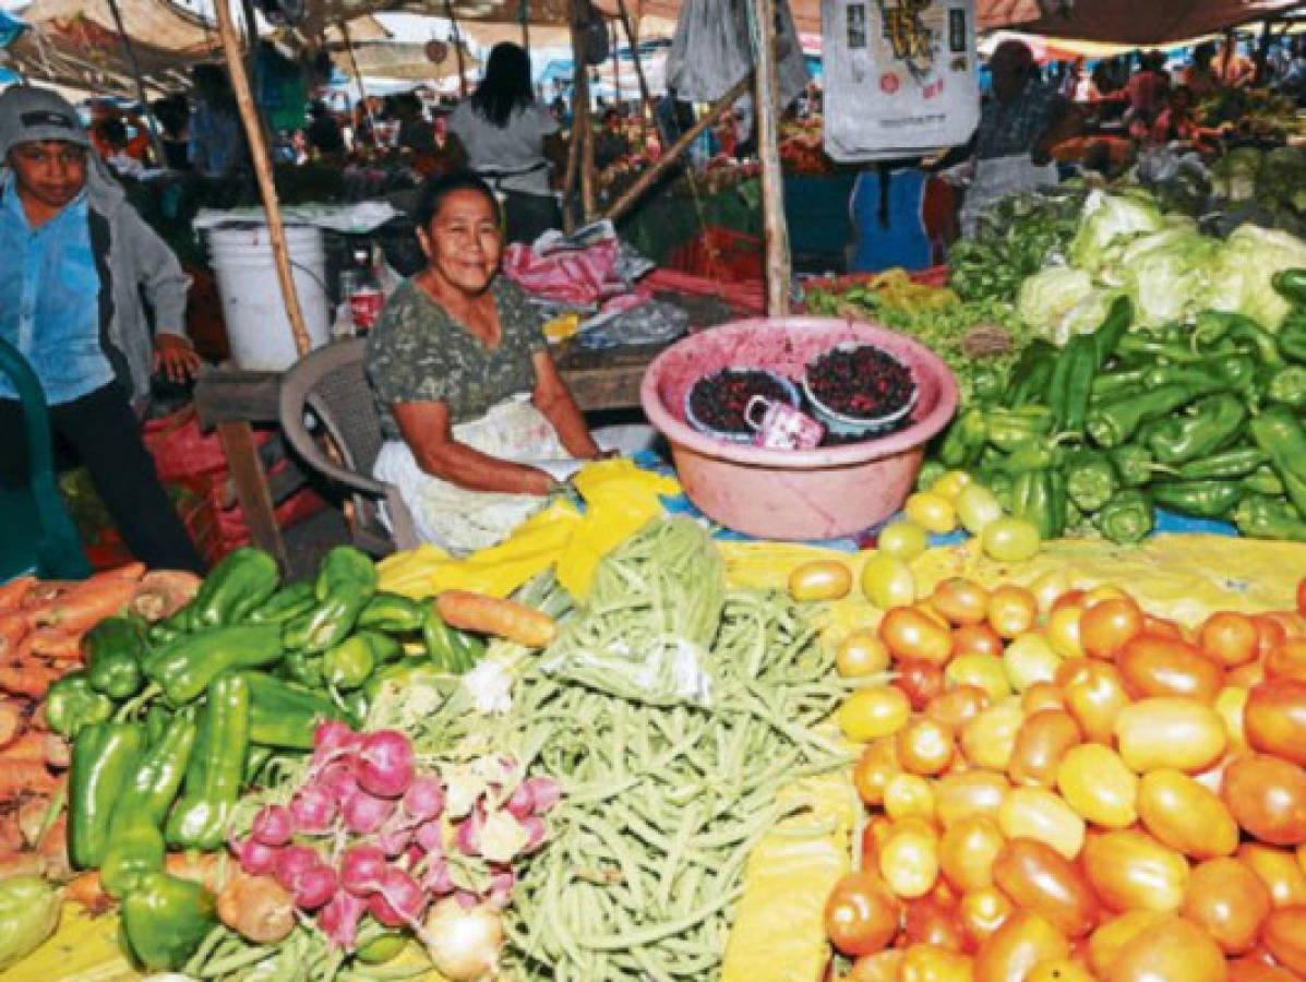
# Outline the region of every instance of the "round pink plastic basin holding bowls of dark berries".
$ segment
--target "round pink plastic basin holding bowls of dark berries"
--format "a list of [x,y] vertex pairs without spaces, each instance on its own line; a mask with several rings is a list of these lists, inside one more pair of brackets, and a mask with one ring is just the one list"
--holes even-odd
[[[684,393],[731,364],[773,368],[798,380],[804,366],[841,341],[878,345],[916,377],[912,424],[866,443],[816,451],[729,444],[684,422]],[[902,507],[921,469],[925,443],[957,407],[948,367],[918,341],[836,317],[755,317],[704,330],[654,359],[640,398],[649,422],[671,444],[684,492],[727,529],[774,539],[827,539],[875,525]]]

